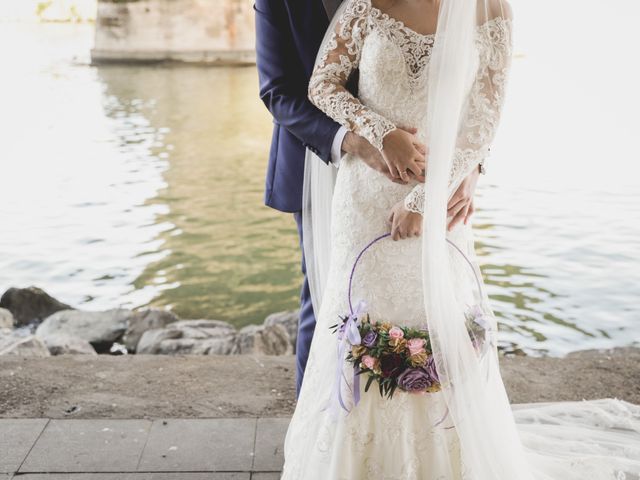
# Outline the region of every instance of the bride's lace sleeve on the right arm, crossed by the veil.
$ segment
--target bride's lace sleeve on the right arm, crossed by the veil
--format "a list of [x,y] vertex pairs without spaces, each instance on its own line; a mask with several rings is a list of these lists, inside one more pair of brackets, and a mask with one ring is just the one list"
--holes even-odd
[[[451,165],[449,185],[456,186],[489,154],[504,101],[511,65],[511,19],[497,17],[478,29],[480,61],[471,87]],[[407,210],[424,212],[425,191],[420,183],[405,198]]]

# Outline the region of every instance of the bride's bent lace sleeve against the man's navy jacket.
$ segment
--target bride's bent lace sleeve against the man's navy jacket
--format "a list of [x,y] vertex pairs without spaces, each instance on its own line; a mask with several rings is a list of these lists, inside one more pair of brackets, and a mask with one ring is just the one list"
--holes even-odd
[[348,0],[335,30],[322,51],[309,83],[309,100],[348,130],[382,150],[385,135],[395,125],[364,106],[345,87],[358,68],[369,26],[370,0]]

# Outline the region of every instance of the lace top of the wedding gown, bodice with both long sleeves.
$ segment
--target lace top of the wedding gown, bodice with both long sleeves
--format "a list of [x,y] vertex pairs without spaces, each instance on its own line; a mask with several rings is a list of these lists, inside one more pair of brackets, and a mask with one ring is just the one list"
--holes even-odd
[[[429,59],[434,35],[408,28],[371,4],[348,0],[320,52],[309,98],[320,110],[382,151],[397,127],[420,128],[426,120]],[[493,18],[478,26],[478,68],[465,104],[452,161],[450,186],[457,186],[489,153],[500,119],[511,60],[511,20]],[[360,71],[358,98],[347,89]],[[407,209],[424,211],[424,184],[407,195]]]

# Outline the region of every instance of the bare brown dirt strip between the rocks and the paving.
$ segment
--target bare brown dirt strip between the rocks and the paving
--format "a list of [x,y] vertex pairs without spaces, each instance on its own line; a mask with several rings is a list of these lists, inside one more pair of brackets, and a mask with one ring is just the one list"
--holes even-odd
[[[507,357],[513,403],[617,397],[640,404],[640,349]],[[0,417],[215,418],[293,412],[292,356],[0,357]]]

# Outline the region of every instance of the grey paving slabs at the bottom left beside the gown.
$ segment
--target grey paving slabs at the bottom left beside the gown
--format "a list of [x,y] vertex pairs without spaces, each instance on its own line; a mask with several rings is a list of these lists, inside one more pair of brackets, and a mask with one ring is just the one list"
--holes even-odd
[[288,423],[0,419],[0,480],[277,480]]

